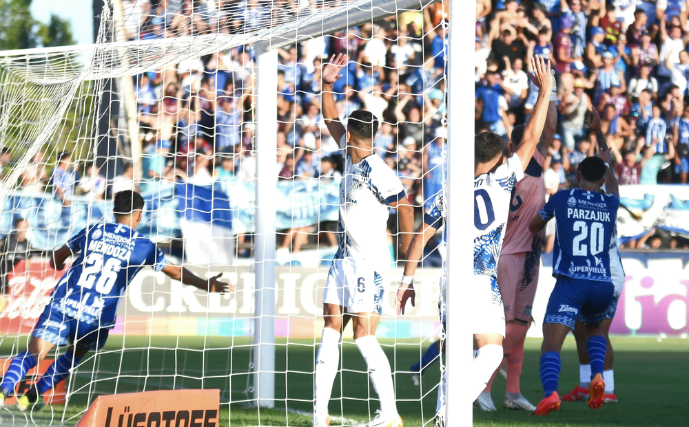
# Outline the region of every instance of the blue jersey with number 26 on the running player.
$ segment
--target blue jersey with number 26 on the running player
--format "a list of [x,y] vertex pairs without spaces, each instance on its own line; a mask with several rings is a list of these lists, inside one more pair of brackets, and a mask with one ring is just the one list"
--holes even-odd
[[118,223],[81,230],[67,242],[81,252],[52,292],[51,307],[90,325],[113,327],[122,294],[139,270],[161,271],[169,260],[156,244]]

